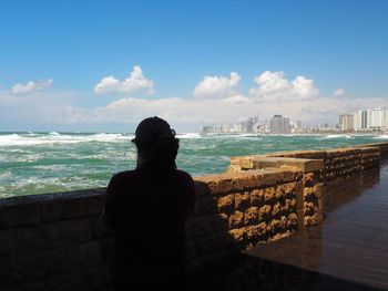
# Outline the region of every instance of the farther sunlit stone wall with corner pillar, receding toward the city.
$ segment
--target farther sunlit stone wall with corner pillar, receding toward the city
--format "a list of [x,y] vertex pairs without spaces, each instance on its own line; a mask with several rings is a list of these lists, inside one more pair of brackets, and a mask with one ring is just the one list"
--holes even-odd
[[267,167],[298,168],[303,172],[304,227],[312,227],[323,221],[324,185],[337,184],[359,176],[368,169],[378,168],[380,156],[387,155],[388,143],[327,150],[280,152],[269,155],[232,157],[228,173]]

